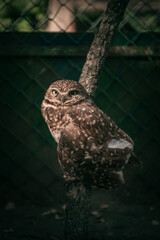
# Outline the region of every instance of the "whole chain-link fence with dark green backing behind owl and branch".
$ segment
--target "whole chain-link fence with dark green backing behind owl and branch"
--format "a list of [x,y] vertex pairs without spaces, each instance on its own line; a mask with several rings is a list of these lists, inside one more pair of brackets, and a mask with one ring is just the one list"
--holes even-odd
[[[2,202],[11,196],[63,201],[56,144],[40,105],[53,81],[78,80],[106,5],[100,0],[0,0]],[[158,192],[159,13],[158,0],[130,1],[95,96],[134,139],[144,160],[143,169],[126,170],[129,188],[137,192]]]

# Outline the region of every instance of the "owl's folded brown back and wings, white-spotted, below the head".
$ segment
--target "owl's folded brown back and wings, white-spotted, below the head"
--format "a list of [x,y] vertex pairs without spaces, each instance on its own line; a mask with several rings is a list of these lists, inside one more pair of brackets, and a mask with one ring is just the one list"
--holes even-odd
[[95,105],[82,105],[67,113],[59,161],[67,180],[86,180],[103,188],[124,183],[122,169],[133,152],[133,141]]

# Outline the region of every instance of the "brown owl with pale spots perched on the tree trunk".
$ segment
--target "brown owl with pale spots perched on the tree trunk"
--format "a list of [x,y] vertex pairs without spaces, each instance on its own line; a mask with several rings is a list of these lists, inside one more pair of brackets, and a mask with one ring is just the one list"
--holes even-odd
[[112,189],[124,183],[123,168],[136,159],[132,139],[73,80],[50,85],[41,112],[58,144],[66,181]]

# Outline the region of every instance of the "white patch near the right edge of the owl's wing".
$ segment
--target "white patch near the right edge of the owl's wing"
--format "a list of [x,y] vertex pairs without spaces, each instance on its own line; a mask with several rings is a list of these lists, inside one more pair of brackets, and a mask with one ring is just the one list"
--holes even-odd
[[121,138],[119,140],[112,139],[108,144],[108,148],[125,149],[127,147],[130,148],[130,149],[133,149],[133,145],[123,138]]

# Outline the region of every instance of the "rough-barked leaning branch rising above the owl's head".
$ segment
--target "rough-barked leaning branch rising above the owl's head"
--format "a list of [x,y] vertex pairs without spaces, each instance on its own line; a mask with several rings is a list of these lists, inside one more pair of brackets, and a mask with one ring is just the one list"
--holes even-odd
[[95,34],[86,62],[80,75],[79,83],[92,95],[102,71],[115,33],[121,22],[129,0],[109,0],[100,27]]

